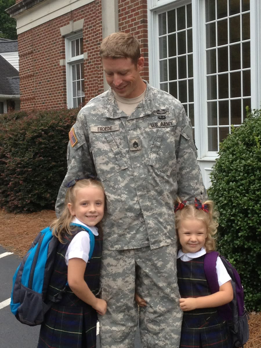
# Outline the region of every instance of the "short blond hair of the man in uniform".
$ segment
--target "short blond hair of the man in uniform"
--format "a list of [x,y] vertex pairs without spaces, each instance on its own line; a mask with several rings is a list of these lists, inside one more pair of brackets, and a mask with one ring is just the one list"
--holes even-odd
[[117,32],[103,39],[100,47],[101,58],[130,58],[137,64],[141,52],[140,42],[131,34]]

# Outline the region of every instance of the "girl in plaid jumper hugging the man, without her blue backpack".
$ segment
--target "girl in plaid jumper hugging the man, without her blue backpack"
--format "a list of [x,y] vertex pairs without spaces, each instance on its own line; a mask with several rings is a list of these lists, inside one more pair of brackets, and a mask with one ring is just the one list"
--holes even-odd
[[[100,181],[73,180],[68,184],[65,209],[50,227],[58,238],[55,269],[48,288],[48,297],[59,294],[68,280],[61,301],[54,303],[41,325],[38,348],[96,347],[97,313],[104,315],[107,304],[97,298],[100,288],[102,231],[97,226],[106,208],[105,193]],[[74,223],[73,225],[71,223]],[[88,260],[90,238],[94,235],[92,258]]]

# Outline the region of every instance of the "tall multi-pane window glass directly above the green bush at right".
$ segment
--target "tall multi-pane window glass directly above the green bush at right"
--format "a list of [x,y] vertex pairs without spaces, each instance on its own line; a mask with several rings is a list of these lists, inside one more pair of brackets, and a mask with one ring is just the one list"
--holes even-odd
[[208,151],[251,108],[250,0],[205,0]]

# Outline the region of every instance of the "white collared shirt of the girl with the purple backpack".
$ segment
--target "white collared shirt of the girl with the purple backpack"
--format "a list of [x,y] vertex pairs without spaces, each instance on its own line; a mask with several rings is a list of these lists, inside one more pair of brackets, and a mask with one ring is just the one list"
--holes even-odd
[[[181,261],[187,262],[192,259],[199,258],[200,256],[205,254],[206,254],[206,250],[204,247],[202,247],[196,253],[183,253],[183,251],[180,249],[179,252],[177,253],[177,259],[181,259]],[[216,274],[217,274],[217,280],[219,282],[219,286],[231,280],[231,277],[228,274],[226,267],[223,265],[223,262],[221,261],[219,256],[217,256],[217,260],[216,260]]]

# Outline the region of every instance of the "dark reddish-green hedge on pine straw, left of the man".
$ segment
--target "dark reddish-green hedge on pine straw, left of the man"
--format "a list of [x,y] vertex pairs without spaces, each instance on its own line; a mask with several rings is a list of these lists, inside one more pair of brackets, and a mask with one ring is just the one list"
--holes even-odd
[[0,115],[0,207],[54,209],[66,174],[68,132],[79,109]]

